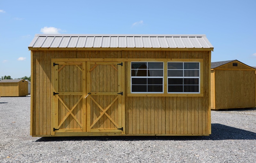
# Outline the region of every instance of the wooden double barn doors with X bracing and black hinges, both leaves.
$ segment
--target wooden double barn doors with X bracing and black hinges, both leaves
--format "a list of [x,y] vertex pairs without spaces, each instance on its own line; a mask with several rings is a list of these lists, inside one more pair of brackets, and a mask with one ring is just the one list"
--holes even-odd
[[121,133],[123,68],[120,62],[52,62],[52,135]]

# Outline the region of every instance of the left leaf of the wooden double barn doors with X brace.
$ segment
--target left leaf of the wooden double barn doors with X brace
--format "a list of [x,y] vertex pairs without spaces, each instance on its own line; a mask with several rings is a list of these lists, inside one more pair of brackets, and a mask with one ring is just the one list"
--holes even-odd
[[52,62],[52,135],[85,130],[83,67],[83,62]]

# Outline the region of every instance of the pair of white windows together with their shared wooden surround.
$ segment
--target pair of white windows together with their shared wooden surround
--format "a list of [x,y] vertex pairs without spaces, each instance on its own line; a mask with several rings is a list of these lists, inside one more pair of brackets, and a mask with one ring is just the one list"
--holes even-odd
[[131,60],[127,65],[127,96],[204,96],[203,59]]

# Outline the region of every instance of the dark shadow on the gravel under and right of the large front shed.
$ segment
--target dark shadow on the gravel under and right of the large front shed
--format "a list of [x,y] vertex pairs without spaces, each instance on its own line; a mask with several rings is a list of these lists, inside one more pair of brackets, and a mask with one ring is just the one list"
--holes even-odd
[[95,136],[95,137],[42,137],[36,142],[49,141],[147,141],[147,140],[256,140],[256,133],[223,124],[212,124],[210,136]]

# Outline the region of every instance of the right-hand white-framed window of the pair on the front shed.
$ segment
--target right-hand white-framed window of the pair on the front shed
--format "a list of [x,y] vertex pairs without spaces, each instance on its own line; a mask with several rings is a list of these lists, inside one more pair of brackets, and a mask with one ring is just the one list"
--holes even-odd
[[167,62],[168,93],[199,93],[199,62]]

